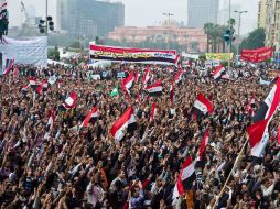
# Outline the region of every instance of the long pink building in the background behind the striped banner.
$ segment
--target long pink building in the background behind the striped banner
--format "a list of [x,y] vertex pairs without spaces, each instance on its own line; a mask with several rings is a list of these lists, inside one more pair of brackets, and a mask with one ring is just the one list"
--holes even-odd
[[206,52],[207,36],[203,29],[171,26],[121,26],[107,34],[114,41],[122,42],[126,40],[131,43],[140,43],[147,40],[152,42],[177,42],[185,46],[187,52]]

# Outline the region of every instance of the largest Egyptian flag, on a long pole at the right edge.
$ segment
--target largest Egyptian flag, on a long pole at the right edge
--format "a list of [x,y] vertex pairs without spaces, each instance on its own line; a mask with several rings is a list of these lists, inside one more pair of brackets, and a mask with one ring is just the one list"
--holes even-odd
[[269,124],[280,102],[280,79],[273,86],[263,105],[254,116],[254,124],[247,128],[251,155],[261,157],[269,142]]

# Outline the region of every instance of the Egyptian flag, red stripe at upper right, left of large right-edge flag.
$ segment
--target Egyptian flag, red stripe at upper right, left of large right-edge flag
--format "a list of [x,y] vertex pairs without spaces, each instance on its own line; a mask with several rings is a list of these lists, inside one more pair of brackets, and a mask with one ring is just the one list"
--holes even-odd
[[202,94],[198,94],[196,100],[194,101],[193,112],[196,117],[201,116],[202,113],[213,113],[214,107],[206,97],[204,97]]

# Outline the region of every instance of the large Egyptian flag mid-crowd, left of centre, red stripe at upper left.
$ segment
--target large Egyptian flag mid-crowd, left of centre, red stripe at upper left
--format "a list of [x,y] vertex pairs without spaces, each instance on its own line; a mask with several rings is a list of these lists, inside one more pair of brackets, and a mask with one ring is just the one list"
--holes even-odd
[[121,141],[126,132],[133,131],[137,128],[134,108],[130,107],[114,124],[110,130],[116,141]]

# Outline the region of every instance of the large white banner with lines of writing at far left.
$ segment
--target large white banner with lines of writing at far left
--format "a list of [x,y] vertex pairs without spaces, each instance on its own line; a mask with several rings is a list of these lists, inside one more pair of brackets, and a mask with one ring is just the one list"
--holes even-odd
[[4,37],[0,43],[2,63],[14,58],[14,64],[29,64],[37,67],[47,66],[47,38],[46,36],[30,40],[13,40]]

